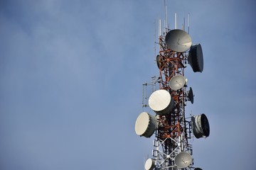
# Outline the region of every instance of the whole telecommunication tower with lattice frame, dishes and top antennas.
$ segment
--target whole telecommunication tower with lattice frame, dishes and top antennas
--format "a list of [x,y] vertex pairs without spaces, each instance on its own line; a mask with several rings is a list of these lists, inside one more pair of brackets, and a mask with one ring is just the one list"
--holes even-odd
[[184,71],[188,63],[193,72],[203,72],[203,51],[201,44],[192,45],[189,14],[188,33],[185,31],[185,23],[182,29],[178,29],[176,23],[175,13],[175,29],[169,29],[165,19],[164,31],[161,33],[159,20],[159,54],[156,55],[159,68],[159,79],[156,82],[159,83],[159,89],[149,96],[148,105],[143,104],[143,107],[149,106],[156,115],[142,112],[135,123],[137,135],[151,137],[155,134],[152,158],[144,164],[146,170],[200,170],[193,166],[191,138],[210,135],[205,114],[190,115],[188,118],[185,115],[187,101],[193,103],[194,95],[191,87],[186,90],[188,80]]

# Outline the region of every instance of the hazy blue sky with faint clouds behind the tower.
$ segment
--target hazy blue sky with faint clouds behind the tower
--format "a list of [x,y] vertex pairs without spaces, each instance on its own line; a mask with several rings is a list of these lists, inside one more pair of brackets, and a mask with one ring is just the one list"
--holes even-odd
[[[168,0],[191,14],[203,73],[185,74],[210,136],[201,169],[255,169],[256,3]],[[154,137],[134,132],[142,84],[158,75],[154,22],[164,1],[0,0],[0,169],[144,169]],[[154,114],[151,111],[151,114]]]

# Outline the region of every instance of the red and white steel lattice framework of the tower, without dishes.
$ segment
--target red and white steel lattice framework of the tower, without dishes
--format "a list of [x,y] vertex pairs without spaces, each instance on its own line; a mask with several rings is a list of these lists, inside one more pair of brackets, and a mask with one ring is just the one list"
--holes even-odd
[[[152,152],[156,160],[155,169],[179,169],[174,163],[177,154],[188,152],[192,155],[192,145],[188,143],[192,132],[191,122],[186,121],[185,118],[186,86],[177,91],[172,91],[169,86],[172,77],[176,75],[184,77],[186,63],[186,52],[174,52],[168,49],[164,36],[159,36],[159,89],[169,91],[174,98],[175,106],[171,113],[156,116],[158,128]],[[191,166],[184,169],[191,169]]]

